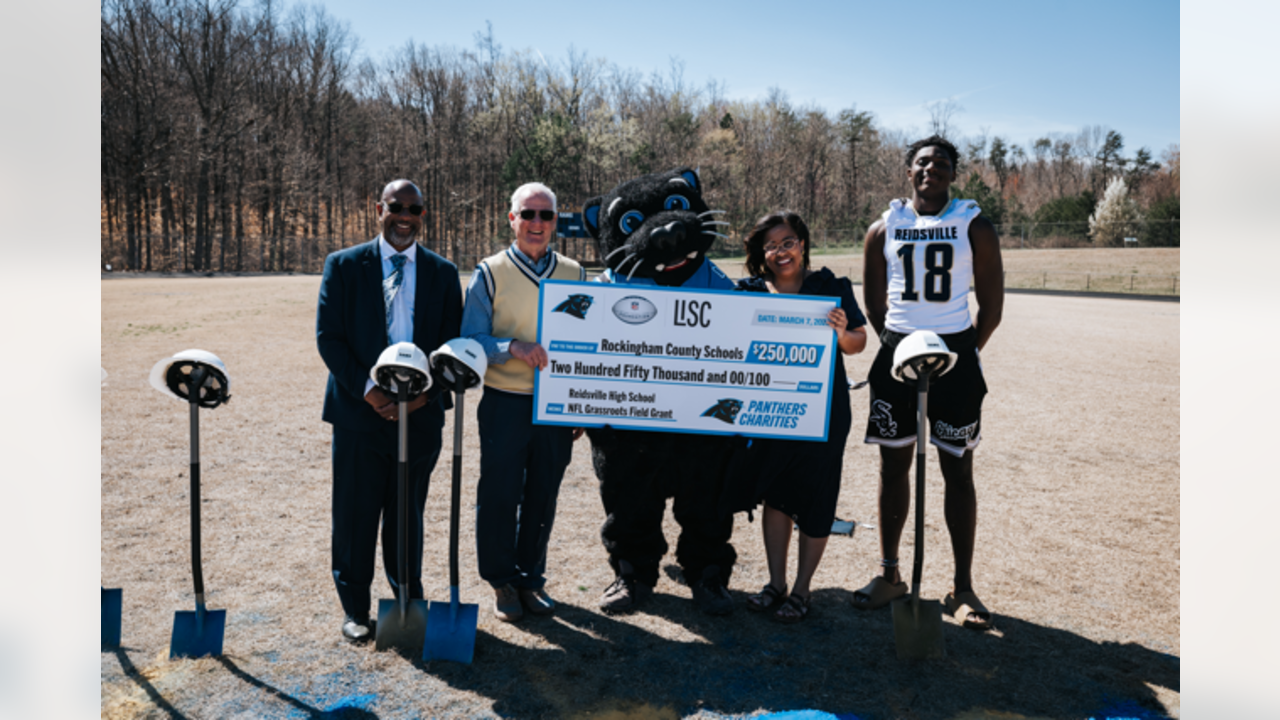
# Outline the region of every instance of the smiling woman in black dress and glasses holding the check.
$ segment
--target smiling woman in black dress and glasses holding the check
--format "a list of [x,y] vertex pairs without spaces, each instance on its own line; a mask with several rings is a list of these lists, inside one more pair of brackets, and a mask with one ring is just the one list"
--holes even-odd
[[[854,355],[867,346],[867,318],[858,307],[849,278],[837,278],[827,268],[809,269],[809,227],[800,215],[782,210],[755,223],[746,238],[746,270],[751,277],[737,283],[741,291],[840,297],[840,307],[827,315],[840,354]],[[769,583],[748,597],[746,606],[758,612],[772,611],[781,623],[799,623],[809,614],[809,582],[836,518],[852,414],[844,357],[833,360],[827,442],[768,439],[760,448],[762,470],[768,478],[760,525]],[[800,547],[796,582],[787,593],[792,521],[800,528]]]

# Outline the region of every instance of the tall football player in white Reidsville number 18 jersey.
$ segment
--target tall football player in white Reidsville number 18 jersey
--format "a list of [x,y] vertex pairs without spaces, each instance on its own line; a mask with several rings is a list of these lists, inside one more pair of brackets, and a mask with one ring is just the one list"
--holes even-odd
[[[929,387],[931,441],[946,482],[946,521],[955,555],[955,585],[946,605],[966,628],[991,628],[991,614],[973,591],[978,501],[973,451],[982,439],[987,383],[978,354],[1000,324],[1004,266],[996,228],[972,200],[951,197],[960,154],[938,136],[906,151],[910,200],[893,200],[867,231],[863,297],[881,347],[870,369],[867,442],[881,450],[881,574],[854,593],[872,610],[906,594],[899,541],[911,503],[915,455],[915,387],[890,375],[893,350],[913,331],[933,331],[957,355],[956,365]],[[969,311],[973,282],[977,311]]]

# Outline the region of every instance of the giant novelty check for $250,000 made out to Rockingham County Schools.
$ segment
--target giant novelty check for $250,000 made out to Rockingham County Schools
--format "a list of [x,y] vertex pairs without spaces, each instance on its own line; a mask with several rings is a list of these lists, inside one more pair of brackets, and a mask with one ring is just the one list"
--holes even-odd
[[838,305],[543,281],[534,421],[824,441]]

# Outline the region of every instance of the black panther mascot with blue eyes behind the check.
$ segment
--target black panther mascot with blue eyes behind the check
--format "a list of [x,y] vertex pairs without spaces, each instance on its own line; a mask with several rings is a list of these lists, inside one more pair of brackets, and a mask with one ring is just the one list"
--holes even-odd
[[[677,168],[627,181],[582,206],[605,270],[599,282],[732,290],[707,259],[722,210],[703,201],[698,173]],[[737,553],[730,544],[733,516],[721,507],[730,464],[741,438],[708,434],[588,429],[591,462],[608,515],[600,537],[616,578],[600,597],[605,612],[628,612],[653,594],[667,553],[662,518],[675,497],[680,524],[676,560],[698,607],[709,615],[733,610],[728,579]]]

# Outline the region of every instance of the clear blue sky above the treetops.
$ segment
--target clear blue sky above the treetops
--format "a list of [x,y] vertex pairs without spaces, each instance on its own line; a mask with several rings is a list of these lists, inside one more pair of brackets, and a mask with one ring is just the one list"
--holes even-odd
[[408,40],[474,47],[489,20],[507,51],[557,61],[572,46],[643,76],[666,76],[678,59],[687,85],[719,82],[730,100],[778,87],[795,105],[856,105],[913,135],[927,127],[928,102],[954,99],[963,136],[986,128],[1029,145],[1102,124],[1124,135],[1125,155],[1147,146],[1157,158],[1180,142],[1170,0],[321,4],[374,59]]

